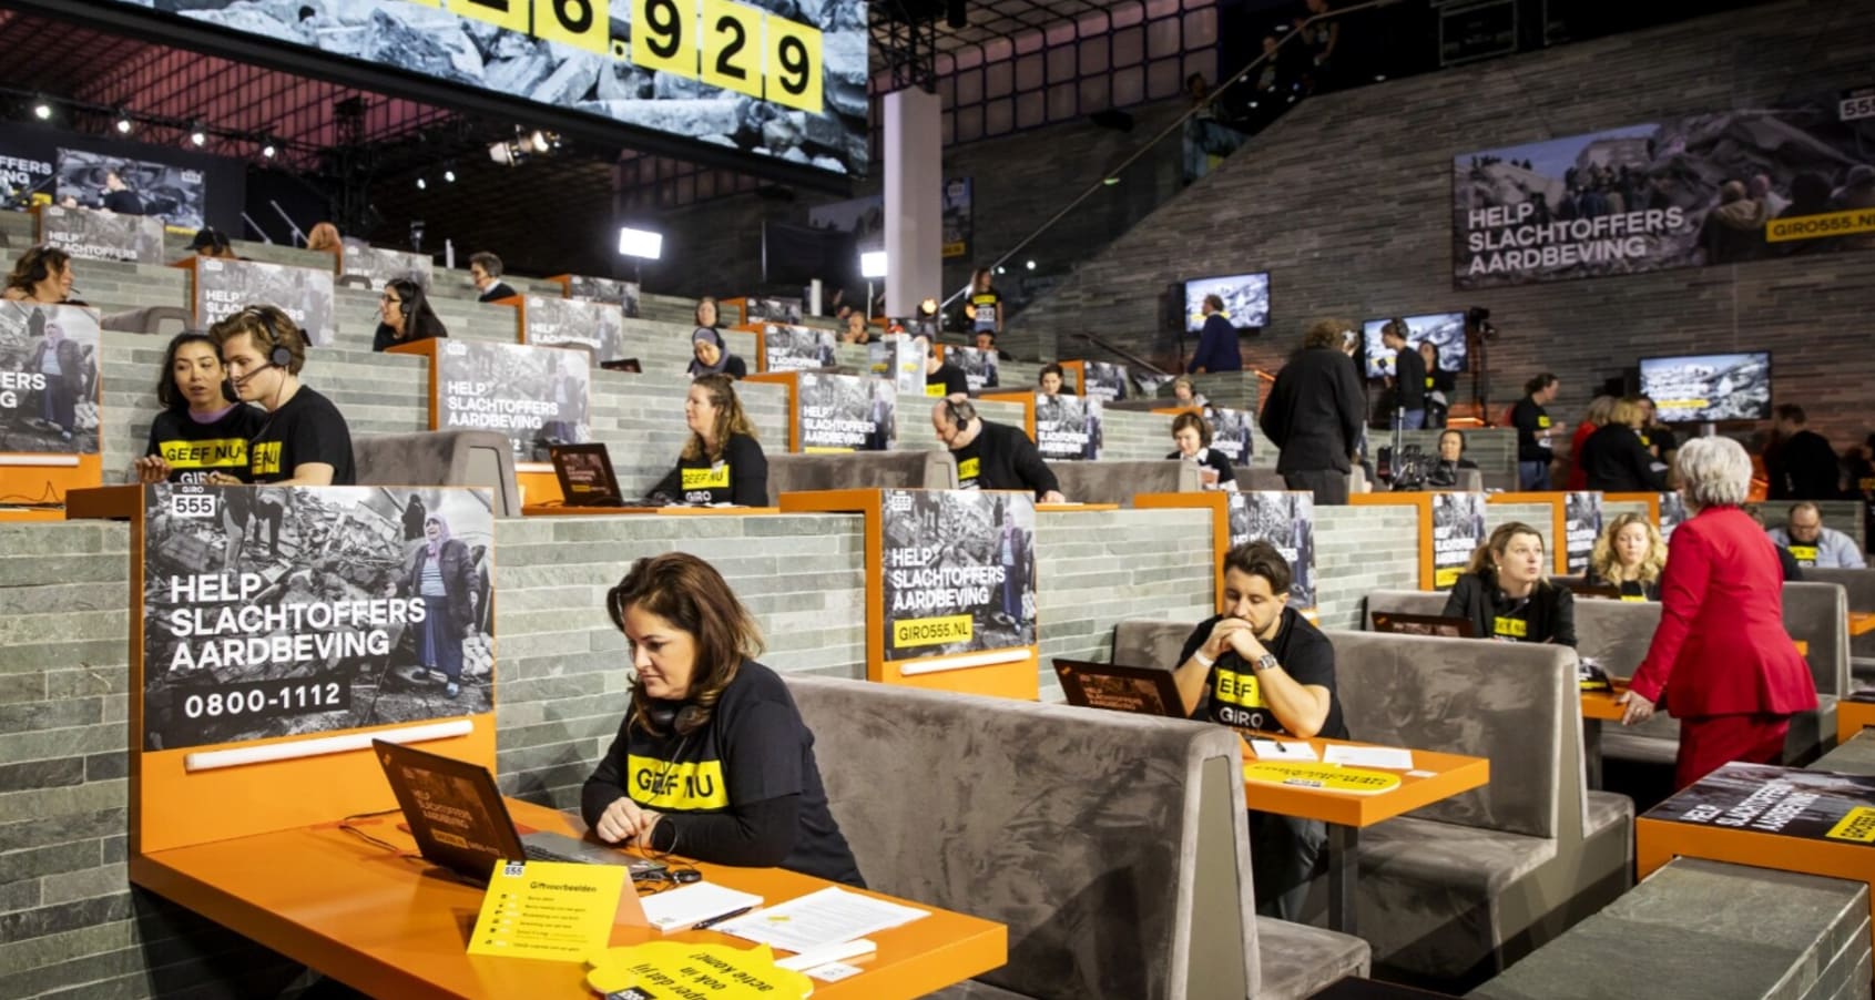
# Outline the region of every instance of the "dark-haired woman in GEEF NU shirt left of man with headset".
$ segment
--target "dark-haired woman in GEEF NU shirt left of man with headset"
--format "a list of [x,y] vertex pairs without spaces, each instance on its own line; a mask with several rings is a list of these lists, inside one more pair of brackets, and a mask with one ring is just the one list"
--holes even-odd
[[137,482],[208,482],[214,473],[248,482],[248,439],[261,430],[261,411],[229,392],[221,351],[208,334],[171,338],[156,402],[163,413],[131,467]]

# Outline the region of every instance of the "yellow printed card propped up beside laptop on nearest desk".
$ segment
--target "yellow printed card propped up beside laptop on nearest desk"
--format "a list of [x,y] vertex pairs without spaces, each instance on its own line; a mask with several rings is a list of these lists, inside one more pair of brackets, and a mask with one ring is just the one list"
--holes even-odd
[[611,940],[624,865],[495,861],[471,955],[579,962]]

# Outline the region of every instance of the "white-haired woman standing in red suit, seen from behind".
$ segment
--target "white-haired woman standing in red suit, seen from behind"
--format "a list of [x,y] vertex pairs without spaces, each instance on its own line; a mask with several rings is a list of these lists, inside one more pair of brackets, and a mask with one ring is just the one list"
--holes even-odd
[[1674,788],[1721,764],[1776,764],[1791,713],[1817,707],[1817,685],[1783,629],[1783,570],[1764,529],[1738,508],[1751,458],[1729,437],[1695,437],[1678,454],[1688,507],[1661,576],[1659,629],[1635,672],[1622,722],[1680,720]]

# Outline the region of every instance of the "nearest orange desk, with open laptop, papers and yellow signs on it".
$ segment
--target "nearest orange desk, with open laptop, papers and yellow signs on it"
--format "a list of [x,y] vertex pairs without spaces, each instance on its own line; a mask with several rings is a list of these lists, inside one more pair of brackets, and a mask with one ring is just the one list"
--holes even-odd
[[[578,822],[561,812],[514,799],[508,809],[527,827],[579,833]],[[390,814],[364,820],[360,827],[414,852],[414,841],[398,827],[399,822],[401,816]],[[699,869],[707,880],[759,893],[771,904],[827,886],[780,869]],[[596,996],[585,987],[585,966],[579,962],[469,955],[467,938],[482,906],[482,889],[429,874],[428,863],[375,848],[336,824],[133,856],[129,876],[371,996]],[[879,951],[851,962],[864,972],[838,983],[816,981],[816,1000],[922,996],[1007,961],[1009,932],[1003,925],[917,906],[930,916],[870,934]],[[643,927],[615,927],[611,944],[662,938],[752,947],[712,931],[660,936]]]

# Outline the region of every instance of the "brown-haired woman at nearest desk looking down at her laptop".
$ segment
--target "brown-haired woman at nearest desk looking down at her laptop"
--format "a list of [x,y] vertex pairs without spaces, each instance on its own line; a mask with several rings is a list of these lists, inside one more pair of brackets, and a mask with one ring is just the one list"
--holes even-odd
[[579,794],[608,844],[782,867],[864,887],[827,809],[814,734],[756,662],[761,632],[714,567],[639,559],[606,595],[632,657],[632,707]]

